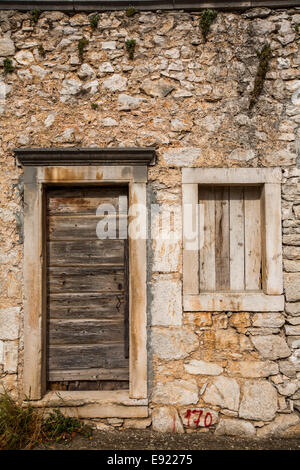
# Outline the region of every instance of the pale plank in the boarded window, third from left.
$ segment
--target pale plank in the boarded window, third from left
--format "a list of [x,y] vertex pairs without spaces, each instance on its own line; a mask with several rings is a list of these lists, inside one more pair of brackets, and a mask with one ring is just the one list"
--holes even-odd
[[244,190],[230,187],[230,290],[245,288]]

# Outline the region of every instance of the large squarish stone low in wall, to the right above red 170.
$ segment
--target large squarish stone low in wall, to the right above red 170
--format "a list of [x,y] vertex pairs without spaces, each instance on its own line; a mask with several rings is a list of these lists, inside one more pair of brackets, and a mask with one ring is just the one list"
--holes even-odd
[[239,409],[240,418],[271,421],[277,411],[277,392],[267,380],[246,381]]

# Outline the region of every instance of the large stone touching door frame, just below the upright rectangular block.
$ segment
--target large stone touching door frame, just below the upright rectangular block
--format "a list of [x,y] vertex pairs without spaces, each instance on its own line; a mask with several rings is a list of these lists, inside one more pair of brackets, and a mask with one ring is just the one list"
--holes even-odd
[[199,346],[195,333],[182,328],[152,329],[153,353],[161,359],[183,359]]

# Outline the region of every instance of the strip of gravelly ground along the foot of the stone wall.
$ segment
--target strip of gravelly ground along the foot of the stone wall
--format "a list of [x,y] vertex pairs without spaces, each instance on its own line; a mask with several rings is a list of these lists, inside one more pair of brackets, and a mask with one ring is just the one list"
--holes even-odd
[[94,431],[92,439],[40,446],[54,450],[300,450],[300,439],[240,439],[207,434],[165,434],[153,431]]

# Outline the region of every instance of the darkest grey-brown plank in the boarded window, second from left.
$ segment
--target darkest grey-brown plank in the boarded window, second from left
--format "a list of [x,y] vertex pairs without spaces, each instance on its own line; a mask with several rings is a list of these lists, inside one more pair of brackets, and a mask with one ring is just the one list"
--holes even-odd
[[229,290],[229,187],[215,188],[216,204],[216,290]]

